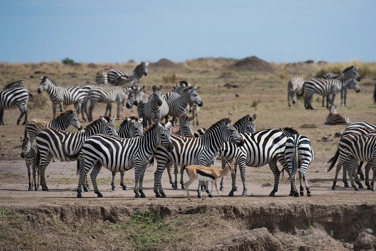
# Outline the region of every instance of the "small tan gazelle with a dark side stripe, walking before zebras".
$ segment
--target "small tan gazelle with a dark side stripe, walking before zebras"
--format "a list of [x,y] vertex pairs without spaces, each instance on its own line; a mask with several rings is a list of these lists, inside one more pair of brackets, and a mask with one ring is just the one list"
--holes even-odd
[[[207,167],[207,166],[199,166],[199,165],[191,165],[191,166],[185,167],[185,172],[188,174],[188,177],[189,177],[188,181],[184,184],[185,191],[187,192],[187,195],[188,195],[188,200],[192,201],[189,196],[188,187],[195,180],[200,180],[200,181],[211,182],[212,189],[210,193],[208,193],[208,195],[205,196],[205,198],[211,195],[211,193],[213,192],[213,185],[215,185],[215,189],[217,189],[217,193],[218,193],[218,199],[220,199],[220,201],[223,201],[219,196],[217,179],[221,179],[222,177],[226,176],[226,174],[230,171],[231,173],[235,172],[233,163],[229,163],[226,166],[226,168],[222,170],[215,168],[215,167]],[[203,198],[202,200],[204,200],[205,198]]]

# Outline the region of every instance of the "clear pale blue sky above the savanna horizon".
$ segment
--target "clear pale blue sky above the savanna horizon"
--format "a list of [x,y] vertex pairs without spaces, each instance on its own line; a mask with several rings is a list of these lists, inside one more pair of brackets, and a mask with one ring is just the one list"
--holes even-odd
[[0,61],[376,61],[376,1],[0,1]]

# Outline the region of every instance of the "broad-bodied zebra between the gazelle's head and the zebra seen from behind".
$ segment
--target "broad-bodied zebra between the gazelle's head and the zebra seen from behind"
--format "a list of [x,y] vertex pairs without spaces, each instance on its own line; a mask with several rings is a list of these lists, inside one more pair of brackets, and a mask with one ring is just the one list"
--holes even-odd
[[[294,161],[292,168],[289,168],[288,164],[284,160],[287,137],[282,132],[275,129],[242,133],[240,135],[244,139],[244,145],[241,147],[236,147],[235,145],[226,142],[220,149],[219,156],[226,158],[226,160],[229,162],[234,161],[234,163],[239,165],[240,176],[243,182],[242,196],[247,196],[245,167],[259,167],[264,166],[265,164],[269,164],[269,167],[274,174],[274,188],[270,193],[270,196],[274,196],[278,191],[280,176],[280,171],[277,167],[278,160],[290,175],[290,196],[298,197],[299,193],[297,192],[295,186],[295,173],[299,166],[297,165],[297,162]],[[297,142],[294,144],[294,148],[296,148],[296,143]],[[296,153],[297,151],[294,151],[294,154]],[[224,158],[222,158],[222,165]],[[233,192],[236,190],[236,173],[232,174],[231,178],[232,190],[230,191],[229,196],[233,196]]]

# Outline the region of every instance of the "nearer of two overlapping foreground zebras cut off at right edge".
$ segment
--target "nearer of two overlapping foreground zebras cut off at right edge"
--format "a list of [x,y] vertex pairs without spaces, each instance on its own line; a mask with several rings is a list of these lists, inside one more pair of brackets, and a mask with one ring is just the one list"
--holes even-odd
[[[328,172],[334,167],[338,161],[337,169],[341,169],[341,166],[348,164],[347,170],[350,176],[350,183],[356,191],[359,188],[354,184],[354,178],[356,183],[360,183],[358,175],[356,175],[355,165],[358,165],[360,161],[370,161],[372,163],[373,178],[371,182],[371,190],[374,191],[373,183],[376,177],[376,132],[370,132],[367,135],[350,133],[341,137],[340,144],[335,155],[328,161],[331,165],[328,168]],[[336,172],[337,174],[337,172]],[[335,189],[336,180],[333,181],[332,189]],[[359,186],[363,188],[362,186]]]

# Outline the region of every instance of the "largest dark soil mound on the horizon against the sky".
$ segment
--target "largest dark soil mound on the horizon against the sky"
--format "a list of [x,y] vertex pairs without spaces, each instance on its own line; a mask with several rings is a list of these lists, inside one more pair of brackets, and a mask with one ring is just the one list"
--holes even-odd
[[266,71],[266,72],[274,72],[275,68],[270,63],[259,59],[256,56],[247,57],[240,59],[239,61],[235,62],[234,64],[227,67],[230,70],[238,70],[238,71]]

